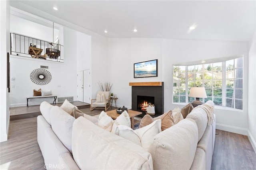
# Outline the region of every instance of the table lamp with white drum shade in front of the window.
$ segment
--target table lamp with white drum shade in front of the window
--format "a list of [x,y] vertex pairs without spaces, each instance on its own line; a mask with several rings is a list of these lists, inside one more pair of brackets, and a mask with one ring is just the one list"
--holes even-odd
[[192,87],[190,89],[189,97],[194,97],[196,100],[191,102],[193,107],[204,104],[199,98],[207,98],[206,91],[204,87]]

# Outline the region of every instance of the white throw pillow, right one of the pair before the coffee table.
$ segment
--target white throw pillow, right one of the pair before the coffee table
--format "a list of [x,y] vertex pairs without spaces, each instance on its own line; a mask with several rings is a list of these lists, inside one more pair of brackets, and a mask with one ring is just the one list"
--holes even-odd
[[125,125],[127,127],[131,127],[131,119],[126,110],[122,114],[120,114],[120,116],[118,116],[116,120],[114,120],[111,133],[116,132],[116,127],[118,125]]

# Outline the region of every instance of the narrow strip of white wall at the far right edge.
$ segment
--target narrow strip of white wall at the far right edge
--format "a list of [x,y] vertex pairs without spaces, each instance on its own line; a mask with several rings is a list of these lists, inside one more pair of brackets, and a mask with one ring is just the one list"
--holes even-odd
[[249,45],[248,65],[248,136],[256,151],[256,33],[252,36]]

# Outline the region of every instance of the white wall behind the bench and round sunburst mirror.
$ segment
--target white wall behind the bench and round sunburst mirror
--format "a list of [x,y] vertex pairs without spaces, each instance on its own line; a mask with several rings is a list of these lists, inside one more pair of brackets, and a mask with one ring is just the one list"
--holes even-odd
[[[10,107],[26,106],[26,97],[33,96],[33,89],[52,90],[58,97],[74,96],[76,101],[76,31],[64,28],[64,63],[30,59],[12,56],[10,59],[11,80]],[[74,50],[75,49],[75,50]],[[47,69],[52,80],[46,85],[37,85],[30,80],[30,73],[40,66]],[[60,87],[58,87],[60,86]],[[31,100],[30,105],[40,104],[42,101],[53,102],[52,98]]]

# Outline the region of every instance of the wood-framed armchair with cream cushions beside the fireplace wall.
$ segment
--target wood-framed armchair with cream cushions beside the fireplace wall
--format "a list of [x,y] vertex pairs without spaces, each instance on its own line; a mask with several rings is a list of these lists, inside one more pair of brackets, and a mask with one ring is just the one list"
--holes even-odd
[[109,107],[110,107],[109,92],[97,92],[96,99],[91,100],[91,111],[94,109],[103,109],[103,108],[105,108],[105,111],[107,111]]

